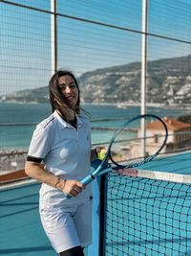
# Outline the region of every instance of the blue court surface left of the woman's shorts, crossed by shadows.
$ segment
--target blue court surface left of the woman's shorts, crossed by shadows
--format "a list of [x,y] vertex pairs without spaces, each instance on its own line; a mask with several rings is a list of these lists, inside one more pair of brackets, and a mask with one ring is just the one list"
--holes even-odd
[[53,256],[38,214],[39,184],[0,191],[0,255]]

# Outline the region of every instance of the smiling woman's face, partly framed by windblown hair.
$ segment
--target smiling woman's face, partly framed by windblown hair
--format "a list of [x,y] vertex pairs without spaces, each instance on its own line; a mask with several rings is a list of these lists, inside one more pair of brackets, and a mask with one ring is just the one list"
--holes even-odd
[[74,79],[69,75],[60,77],[58,78],[58,86],[67,102],[74,107],[79,96],[79,91]]

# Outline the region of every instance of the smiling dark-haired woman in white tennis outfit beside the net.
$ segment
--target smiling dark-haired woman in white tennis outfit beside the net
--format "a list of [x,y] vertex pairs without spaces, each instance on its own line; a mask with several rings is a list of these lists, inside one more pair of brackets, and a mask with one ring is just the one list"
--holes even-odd
[[93,197],[91,186],[79,180],[90,173],[100,148],[91,150],[90,122],[81,113],[73,73],[56,72],[49,90],[53,113],[33,132],[25,170],[42,182],[40,217],[57,254],[83,256],[92,239]]

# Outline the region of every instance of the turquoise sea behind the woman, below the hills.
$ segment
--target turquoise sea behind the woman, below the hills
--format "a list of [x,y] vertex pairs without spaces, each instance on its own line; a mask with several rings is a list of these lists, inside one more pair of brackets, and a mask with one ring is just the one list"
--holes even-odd
[[[101,144],[111,139],[114,130],[140,113],[140,107],[129,105],[82,105],[92,123],[92,142]],[[180,106],[148,106],[147,113],[159,117],[179,117],[190,114],[191,108]],[[0,151],[27,151],[32,138],[32,132],[40,121],[51,114],[49,104],[13,104],[0,103]]]

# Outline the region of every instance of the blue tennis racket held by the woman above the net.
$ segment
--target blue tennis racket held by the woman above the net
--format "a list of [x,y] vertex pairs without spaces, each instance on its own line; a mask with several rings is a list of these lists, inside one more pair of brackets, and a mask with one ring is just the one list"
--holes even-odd
[[[168,129],[165,120],[156,115],[138,115],[127,122],[114,133],[109,147],[96,170],[83,178],[84,185],[91,183],[98,175],[108,172],[136,168],[159,155],[166,144]],[[67,198],[71,198],[67,195]]]

